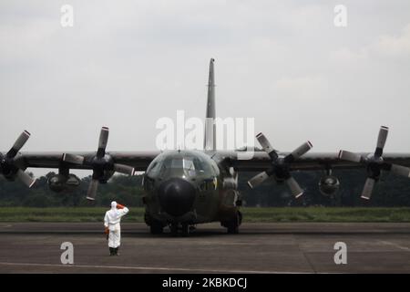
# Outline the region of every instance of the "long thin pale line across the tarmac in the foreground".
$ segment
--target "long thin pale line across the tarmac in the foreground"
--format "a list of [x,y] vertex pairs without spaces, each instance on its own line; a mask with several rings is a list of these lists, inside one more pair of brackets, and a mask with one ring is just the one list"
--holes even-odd
[[259,271],[259,270],[223,270],[223,269],[202,269],[183,267],[162,267],[162,266],[97,266],[97,265],[56,265],[56,264],[34,264],[34,263],[10,263],[0,262],[0,266],[49,266],[49,267],[85,267],[85,268],[112,268],[131,270],[156,270],[156,271],[188,271],[200,273],[237,273],[237,274],[313,274],[312,272],[279,272],[279,271]]

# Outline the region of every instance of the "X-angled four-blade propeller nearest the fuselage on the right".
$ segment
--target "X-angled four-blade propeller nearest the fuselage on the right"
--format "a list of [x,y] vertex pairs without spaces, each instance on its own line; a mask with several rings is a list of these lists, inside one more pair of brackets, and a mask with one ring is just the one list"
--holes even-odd
[[289,168],[292,162],[312,149],[312,143],[310,141],[306,141],[288,155],[282,156],[278,153],[278,151],[272,148],[271,143],[262,133],[256,135],[256,139],[261,144],[263,151],[267,152],[271,158],[272,166],[265,172],[258,173],[252,177],[251,180],[248,181],[248,185],[251,188],[254,188],[263,183],[267,178],[273,176],[277,182],[284,181],[295,198],[300,197],[303,194],[303,190],[299,186],[299,183],[297,183],[292,177]]

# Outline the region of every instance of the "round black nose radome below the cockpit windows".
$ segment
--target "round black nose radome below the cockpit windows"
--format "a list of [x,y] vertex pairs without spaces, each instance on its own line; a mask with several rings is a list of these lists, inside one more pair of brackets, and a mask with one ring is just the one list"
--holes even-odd
[[162,210],[173,216],[189,212],[195,200],[194,187],[179,178],[161,183],[158,194]]

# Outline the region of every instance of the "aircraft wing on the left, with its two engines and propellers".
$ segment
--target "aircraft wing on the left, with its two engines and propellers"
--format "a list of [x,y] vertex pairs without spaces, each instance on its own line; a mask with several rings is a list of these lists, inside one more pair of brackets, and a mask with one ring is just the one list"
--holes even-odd
[[[132,175],[134,171],[145,171],[149,162],[159,154],[159,151],[106,152],[108,135],[104,137],[103,133],[101,136],[103,139],[100,139],[98,150],[93,152],[19,152],[18,150],[29,137],[29,133],[24,132],[10,151],[0,152],[0,171],[6,178],[17,177],[22,183],[31,187],[36,179],[25,172],[26,168],[56,168],[59,172],[67,174],[69,169],[89,169],[92,170],[92,179],[88,186],[87,199],[95,200],[98,184],[104,179],[107,168],[114,172]],[[56,184],[62,183],[66,183],[66,180],[57,177]]]

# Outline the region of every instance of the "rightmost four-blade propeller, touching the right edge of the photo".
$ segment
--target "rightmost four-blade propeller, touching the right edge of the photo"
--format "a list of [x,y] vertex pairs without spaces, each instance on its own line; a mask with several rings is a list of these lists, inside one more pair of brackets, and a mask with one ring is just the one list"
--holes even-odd
[[362,156],[359,153],[343,150],[339,151],[339,159],[348,162],[358,162],[366,165],[368,174],[361,194],[361,197],[365,200],[370,200],[370,197],[373,193],[374,184],[379,180],[381,171],[389,171],[405,177],[410,176],[410,168],[402,165],[384,162],[383,151],[388,132],[389,128],[384,126],[380,127],[374,153],[370,153],[366,157]]

